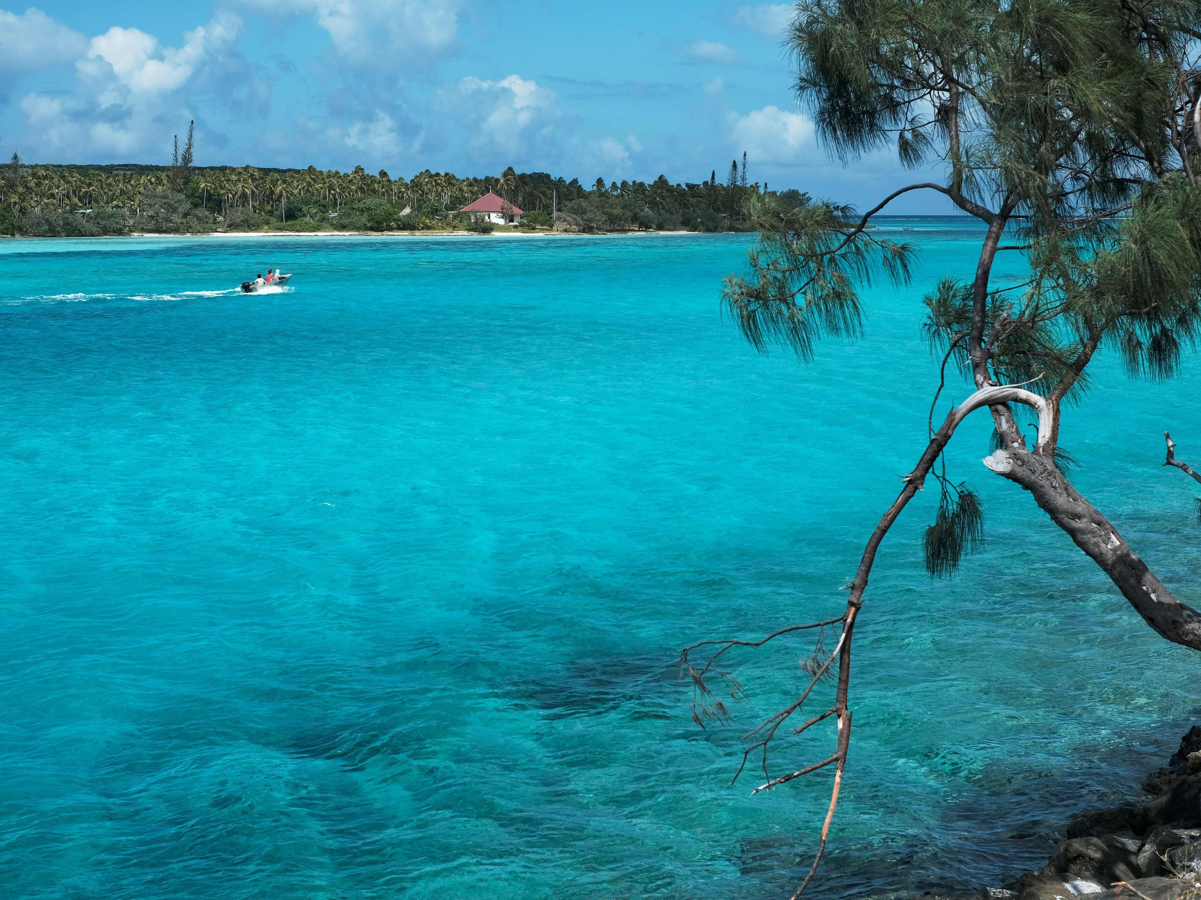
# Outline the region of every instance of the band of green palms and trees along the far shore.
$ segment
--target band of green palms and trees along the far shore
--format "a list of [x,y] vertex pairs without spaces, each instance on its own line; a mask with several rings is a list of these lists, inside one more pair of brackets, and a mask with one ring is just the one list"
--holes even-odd
[[700,184],[578,179],[544,172],[459,178],[420,172],[411,179],[353,172],[193,166],[193,137],[171,166],[26,166],[13,154],[0,166],[0,233],[67,236],[211,230],[388,232],[476,230],[459,210],[489,191],[525,210],[521,230],[555,228],[627,230],[749,230],[753,198],[784,208],[808,202],[797,191],[767,193],[747,180],[747,161],[730,163],[724,182],[715,170]]

